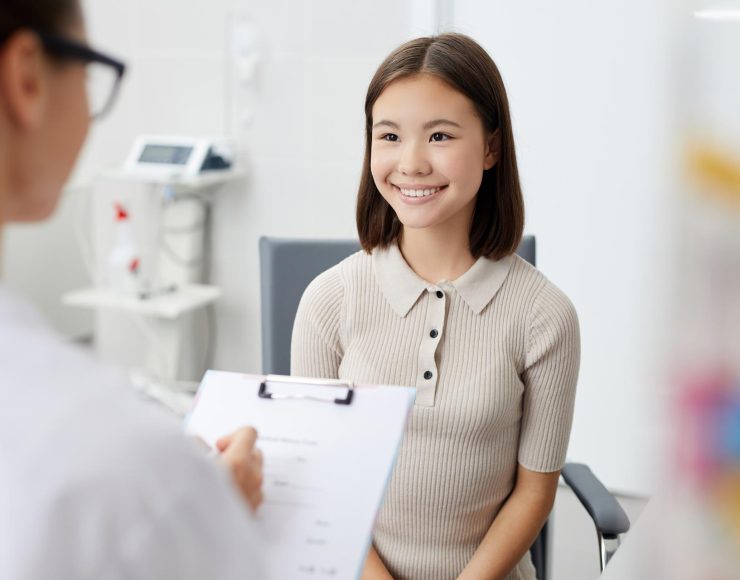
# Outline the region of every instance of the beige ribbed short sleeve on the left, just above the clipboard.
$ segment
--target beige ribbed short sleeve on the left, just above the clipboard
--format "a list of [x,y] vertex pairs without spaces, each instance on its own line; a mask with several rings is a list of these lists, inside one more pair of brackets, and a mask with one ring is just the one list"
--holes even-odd
[[320,274],[298,305],[290,348],[290,374],[335,379],[343,350],[340,340],[343,285],[339,266]]

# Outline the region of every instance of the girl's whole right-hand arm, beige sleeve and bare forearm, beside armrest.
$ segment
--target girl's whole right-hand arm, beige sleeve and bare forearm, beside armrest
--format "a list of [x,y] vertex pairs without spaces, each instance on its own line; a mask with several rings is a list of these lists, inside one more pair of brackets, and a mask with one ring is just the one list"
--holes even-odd
[[578,380],[578,316],[570,300],[547,284],[533,302],[528,328],[516,483],[462,580],[504,578],[527,553],[555,502]]

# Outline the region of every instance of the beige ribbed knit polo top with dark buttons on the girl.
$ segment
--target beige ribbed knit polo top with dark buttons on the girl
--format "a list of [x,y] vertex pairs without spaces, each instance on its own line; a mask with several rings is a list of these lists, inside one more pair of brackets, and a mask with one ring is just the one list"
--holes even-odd
[[[414,386],[373,541],[396,580],[457,577],[517,463],[565,461],[580,342],[571,302],[516,255],[430,284],[395,245],[319,275],[298,308],[294,375]],[[507,576],[535,577],[529,554]]]

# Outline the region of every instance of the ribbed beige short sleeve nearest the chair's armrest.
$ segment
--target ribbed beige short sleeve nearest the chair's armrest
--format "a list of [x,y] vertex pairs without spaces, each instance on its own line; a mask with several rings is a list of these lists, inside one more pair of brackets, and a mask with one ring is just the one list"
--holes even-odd
[[519,463],[527,469],[548,473],[565,463],[580,356],[575,308],[546,281],[530,311],[522,376]]

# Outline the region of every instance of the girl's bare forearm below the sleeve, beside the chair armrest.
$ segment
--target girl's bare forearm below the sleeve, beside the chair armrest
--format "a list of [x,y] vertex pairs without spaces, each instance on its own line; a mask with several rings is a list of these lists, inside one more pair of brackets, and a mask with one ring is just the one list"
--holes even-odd
[[458,580],[494,580],[511,572],[550,515],[559,477],[559,471],[537,473],[519,466],[514,490]]

